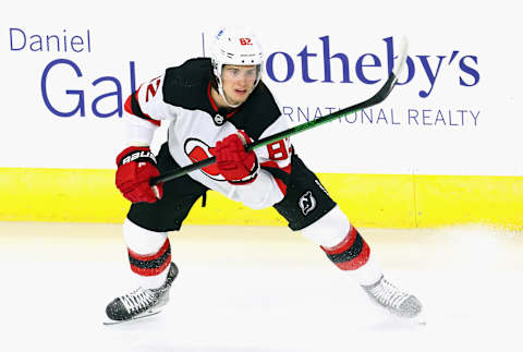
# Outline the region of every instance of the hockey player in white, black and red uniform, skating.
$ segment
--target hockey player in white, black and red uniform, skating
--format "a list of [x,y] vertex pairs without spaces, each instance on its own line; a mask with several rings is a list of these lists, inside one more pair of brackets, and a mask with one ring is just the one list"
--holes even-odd
[[[377,304],[402,317],[422,309],[412,294],[389,283],[370,248],[305,166],[289,138],[246,153],[244,144],[287,130],[262,81],[263,52],[245,29],[221,29],[211,58],[186,61],[142,84],[125,102],[129,147],[117,157],[115,184],[133,204],[123,223],[131,270],[141,287],[107,306],[112,320],[157,313],[178,275],[168,231],[178,231],[208,190],[253,209],[275,207],[345,270]],[[157,156],[149,144],[160,121],[168,141]],[[149,186],[160,172],[216,156],[217,162]]]

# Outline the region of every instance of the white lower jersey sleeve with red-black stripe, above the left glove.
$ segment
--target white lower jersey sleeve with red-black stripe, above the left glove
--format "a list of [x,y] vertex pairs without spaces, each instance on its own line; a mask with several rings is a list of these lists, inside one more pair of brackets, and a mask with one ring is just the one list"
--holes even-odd
[[139,85],[124,105],[126,139],[131,145],[149,145],[161,120],[174,120],[175,108],[163,101],[165,75]]

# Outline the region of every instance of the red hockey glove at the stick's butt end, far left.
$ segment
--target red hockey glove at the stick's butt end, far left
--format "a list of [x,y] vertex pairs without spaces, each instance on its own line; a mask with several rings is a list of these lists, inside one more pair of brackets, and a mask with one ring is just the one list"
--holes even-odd
[[129,147],[117,157],[117,187],[133,203],[155,203],[163,195],[163,184],[149,186],[149,180],[160,174],[149,147]]

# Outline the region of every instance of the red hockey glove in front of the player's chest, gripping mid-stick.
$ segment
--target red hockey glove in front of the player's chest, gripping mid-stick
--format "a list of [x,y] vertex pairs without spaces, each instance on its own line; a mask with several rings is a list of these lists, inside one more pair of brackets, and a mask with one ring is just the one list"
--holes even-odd
[[247,184],[258,175],[256,154],[245,151],[244,142],[247,144],[252,139],[244,131],[239,131],[209,148],[209,153],[216,157],[219,172],[232,184]]

